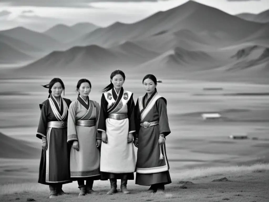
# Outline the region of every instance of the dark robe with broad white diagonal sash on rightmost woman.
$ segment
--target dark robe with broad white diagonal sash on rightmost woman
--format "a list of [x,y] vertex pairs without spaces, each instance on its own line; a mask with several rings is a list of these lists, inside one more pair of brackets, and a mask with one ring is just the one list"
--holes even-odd
[[[168,116],[167,101],[155,91],[145,102],[147,93],[137,99],[135,107],[136,131],[138,138],[136,184],[153,185],[169,184],[169,164],[166,156],[165,144],[159,145],[159,135],[167,136],[171,133]],[[160,159],[162,152],[163,159]]]

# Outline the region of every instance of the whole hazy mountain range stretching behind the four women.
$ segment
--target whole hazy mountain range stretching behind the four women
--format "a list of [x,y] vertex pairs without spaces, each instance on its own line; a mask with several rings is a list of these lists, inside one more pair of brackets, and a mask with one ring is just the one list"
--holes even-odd
[[20,76],[29,72],[49,75],[52,70],[70,75],[115,68],[129,72],[158,70],[168,77],[197,71],[206,72],[205,76],[209,71],[224,75],[231,70],[240,76],[246,69],[265,75],[269,72],[266,13],[255,15],[256,20],[247,19],[242,14],[233,16],[188,1],[131,24],[56,25],[43,33],[17,27],[0,31],[0,43],[10,53],[0,60],[10,63],[13,55],[14,61],[32,59],[15,70]]

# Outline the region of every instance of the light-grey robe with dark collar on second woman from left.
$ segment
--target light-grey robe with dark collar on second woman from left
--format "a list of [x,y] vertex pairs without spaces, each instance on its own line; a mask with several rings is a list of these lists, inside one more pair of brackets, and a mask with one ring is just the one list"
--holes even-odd
[[70,172],[72,180],[100,179],[100,150],[96,147],[96,139],[101,139],[97,133],[100,105],[87,97],[85,102],[78,96],[69,107],[68,142],[78,141],[79,151],[71,148]]

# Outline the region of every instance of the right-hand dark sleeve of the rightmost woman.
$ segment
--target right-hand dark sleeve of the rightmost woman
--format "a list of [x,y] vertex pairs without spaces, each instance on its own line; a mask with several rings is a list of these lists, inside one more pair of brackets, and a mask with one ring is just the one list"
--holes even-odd
[[164,136],[167,136],[171,133],[168,123],[168,116],[167,116],[167,108],[166,108],[166,102],[164,98],[159,98],[157,100],[157,109],[159,112],[159,128],[160,128],[160,134],[164,134]]

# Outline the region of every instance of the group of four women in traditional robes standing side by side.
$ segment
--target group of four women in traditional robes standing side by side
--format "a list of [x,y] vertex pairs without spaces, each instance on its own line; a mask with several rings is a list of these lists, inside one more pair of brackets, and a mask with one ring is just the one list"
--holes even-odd
[[[96,193],[94,180],[110,180],[107,194],[130,193],[128,180],[150,186],[150,193],[164,193],[171,183],[165,140],[171,132],[167,101],[157,93],[156,77],[143,78],[144,96],[133,100],[124,90],[125,74],[115,70],[103,89],[101,105],[89,99],[91,83],[80,79],[77,100],[61,97],[65,86],[54,78],[48,85],[48,99],[40,104],[41,116],[36,136],[42,139],[38,182],[49,185],[49,197],[65,194],[62,184],[77,181],[79,196]],[[137,150],[135,161],[134,146]],[[84,183],[86,180],[86,184]]]

